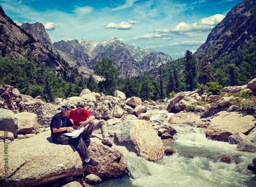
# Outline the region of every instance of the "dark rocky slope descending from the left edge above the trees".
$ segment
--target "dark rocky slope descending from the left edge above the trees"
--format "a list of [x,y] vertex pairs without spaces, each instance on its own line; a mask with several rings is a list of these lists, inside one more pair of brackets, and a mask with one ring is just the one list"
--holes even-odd
[[31,58],[37,58],[41,64],[50,59],[56,70],[63,69],[62,63],[56,56],[36,40],[16,25],[0,7],[0,52],[3,57],[24,58],[24,55],[29,55]]

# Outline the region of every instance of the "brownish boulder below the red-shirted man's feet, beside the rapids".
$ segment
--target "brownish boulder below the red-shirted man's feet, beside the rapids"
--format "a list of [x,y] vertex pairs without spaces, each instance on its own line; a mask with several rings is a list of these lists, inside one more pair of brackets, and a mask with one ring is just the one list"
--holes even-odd
[[91,143],[88,148],[91,157],[99,162],[97,167],[88,167],[88,173],[97,175],[101,180],[110,178],[118,178],[125,173],[127,167],[126,157],[123,151],[116,145],[108,147],[101,143],[98,137],[91,138]]

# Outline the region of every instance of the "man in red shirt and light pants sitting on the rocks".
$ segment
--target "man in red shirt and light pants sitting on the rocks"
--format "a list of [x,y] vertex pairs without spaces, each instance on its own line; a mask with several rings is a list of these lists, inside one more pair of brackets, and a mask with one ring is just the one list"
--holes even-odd
[[83,140],[90,144],[90,138],[92,137],[92,133],[95,130],[98,130],[100,128],[101,135],[102,135],[102,143],[104,145],[107,145],[109,147],[112,147],[112,142],[109,141],[109,132],[108,128],[106,127],[105,120],[94,120],[94,117],[91,116],[90,112],[88,110],[84,109],[84,106],[87,106],[85,103],[78,102],[75,104],[76,110],[71,111],[68,115],[69,119],[72,119],[74,122],[75,128],[83,127],[86,124],[90,123],[90,125],[84,129],[82,133]]

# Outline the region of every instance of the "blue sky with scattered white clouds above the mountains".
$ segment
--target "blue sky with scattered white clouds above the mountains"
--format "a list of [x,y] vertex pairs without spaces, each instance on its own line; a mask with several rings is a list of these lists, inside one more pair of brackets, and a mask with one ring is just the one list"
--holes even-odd
[[40,22],[52,42],[70,39],[123,43],[153,49],[173,59],[195,52],[242,0],[0,0],[19,23]]

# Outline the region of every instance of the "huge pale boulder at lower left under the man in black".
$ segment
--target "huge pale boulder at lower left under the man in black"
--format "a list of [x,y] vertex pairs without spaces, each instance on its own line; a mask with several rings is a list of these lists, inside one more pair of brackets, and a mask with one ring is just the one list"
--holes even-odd
[[[78,176],[86,169],[71,145],[52,142],[51,131],[8,144],[8,170],[0,162],[1,186],[34,186]],[[1,145],[4,150],[4,145]],[[7,180],[5,179],[7,178]]]

